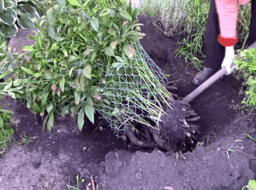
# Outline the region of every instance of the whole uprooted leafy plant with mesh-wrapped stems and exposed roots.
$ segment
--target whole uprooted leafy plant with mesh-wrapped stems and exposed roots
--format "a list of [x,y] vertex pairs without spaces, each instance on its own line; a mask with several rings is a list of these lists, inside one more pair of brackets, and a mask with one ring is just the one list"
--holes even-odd
[[97,111],[117,136],[140,147],[193,142],[199,131],[189,122],[198,117],[168,92],[164,74],[139,44],[145,34],[137,12],[125,0],[59,0],[35,20],[36,43],[24,46],[30,53],[2,61],[16,65],[7,94],[40,113],[48,130],[56,114],[77,117],[81,130],[84,116],[94,123]]

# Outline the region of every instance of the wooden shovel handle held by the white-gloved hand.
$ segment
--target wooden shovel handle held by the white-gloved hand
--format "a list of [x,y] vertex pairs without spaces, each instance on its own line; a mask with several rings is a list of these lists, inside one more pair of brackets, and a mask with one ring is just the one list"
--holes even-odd
[[[254,43],[252,43],[250,46],[248,46],[246,49],[251,49],[251,48],[254,48],[255,46],[256,46],[256,41]],[[227,74],[226,68],[223,67],[218,72],[216,72],[214,75],[212,75],[209,79],[207,79],[203,84],[198,86],[189,95],[184,97],[182,99],[182,101],[186,102],[186,103],[190,103],[194,98],[196,98],[198,95],[200,95],[203,91],[205,91],[208,87],[210,87],[213,83],[215,83],[217,80],[219,80],[222,76],[224,76],[226,74]]]

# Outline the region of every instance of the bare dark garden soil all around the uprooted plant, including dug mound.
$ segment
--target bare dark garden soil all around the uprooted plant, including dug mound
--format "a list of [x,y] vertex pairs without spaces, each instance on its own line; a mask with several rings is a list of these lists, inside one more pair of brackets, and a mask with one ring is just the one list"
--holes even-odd
[[[172,75],[169,80],[177,81],[179,90],[174,93],[189,94],[197,87],[191,80],[198,71],[186,68],[183,57],[174,57],[177,45],[154,31],[151,18],[140,16],[139,20],[147,35],[141,44],[164,73]],[[21,31],[11,40],[12,46],[27,43],[26,31]],[[239,190],[256,178],[256,144],[244,135],[256,137],[255,117],[230,108],[240,101],[240,86],[234,77],[225,76],[190,104],[201,117],[198,141],[204,144],[178,156],[157,149],[125,150],[123,141],[103,124],[99,124],[102,131],[93,132],[98,123],[86,122],[79,133],[74,121],[56,117],[52,133],[42,133],[41,121],[38,124],[18,101],[4,98],[3,108],[19,115],[12,118],[16,144],[0,160],[0,190],[63,190],[68,189],[69,177],[71,185],[76,185],[77,175],[85,178],[87,185],[91,174],[99,190],[162,190],[165,186],[174,190]],[[18,144],[23,132],[31,139],[27,145]],[[228,157],[232,146],[238,151],[229,152]],[[85,189],[82,182],[79,185],[80,190]]]

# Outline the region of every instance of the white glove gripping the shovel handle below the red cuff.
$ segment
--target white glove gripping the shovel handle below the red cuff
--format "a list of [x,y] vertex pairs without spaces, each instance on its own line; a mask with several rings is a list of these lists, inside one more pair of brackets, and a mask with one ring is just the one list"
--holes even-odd
[[236,65],[233,63],[234,57],[235,57],[235,50],[234,46],[227,46],[225,47],[225,57],[222,61],[221,67],[225,67],[227,74],[230,75],[236,68]]

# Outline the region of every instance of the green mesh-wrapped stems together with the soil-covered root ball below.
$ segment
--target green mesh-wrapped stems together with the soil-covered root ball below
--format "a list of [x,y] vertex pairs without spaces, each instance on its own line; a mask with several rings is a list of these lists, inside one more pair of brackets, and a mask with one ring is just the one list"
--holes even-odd
[[[194,134],[199,131],[189,122],[198,119],[196,113],[189,105],[174,100],[164,85],[165,75],[140,43],[129,45],[132,58],[123,54],[111,67],[104,68],[108,72],[106,83],[99,83],[101,99],[95,103],[97,111],[118,137],[128,135],[140,147],[158,144],[169,150],[172,142],[188,139],[193,143]],[[138,124],[147,139],[144,142],[136,138]],[[151,136],[153,141],[148,140]]]

